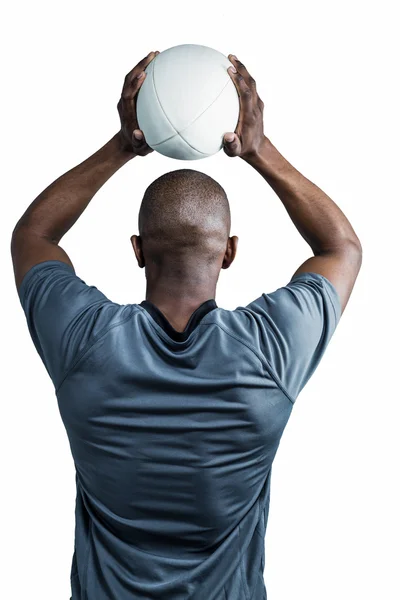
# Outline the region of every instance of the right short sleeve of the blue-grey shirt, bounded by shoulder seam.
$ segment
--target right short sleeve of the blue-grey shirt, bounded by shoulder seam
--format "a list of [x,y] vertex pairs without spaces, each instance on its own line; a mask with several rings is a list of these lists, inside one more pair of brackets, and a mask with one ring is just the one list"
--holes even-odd
[[318,366],[341,316],[334,285],[319,273],[299,273],[244,309],[253,343],[294,402]]

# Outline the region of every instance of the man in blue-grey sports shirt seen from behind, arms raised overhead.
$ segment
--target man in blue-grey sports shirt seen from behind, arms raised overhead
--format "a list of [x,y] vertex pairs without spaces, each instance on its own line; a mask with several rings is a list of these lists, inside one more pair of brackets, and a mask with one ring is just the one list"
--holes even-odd
[[86,285],[59,242],[115,171],[152,152],[135,107],[156,55],[125,79],[121,130],[44,190],[12,236],[76,466],[72,599],[262,600],[271,466],[362,250],[338,206],[264,135],[255,82],[230,55],[241,108],[224,151],[274,189],[313,256],[284,287],[219,308],[238,241],[229,203],[212,178],[181,169],[146,190],[131,238],[146,299],[119,305]]

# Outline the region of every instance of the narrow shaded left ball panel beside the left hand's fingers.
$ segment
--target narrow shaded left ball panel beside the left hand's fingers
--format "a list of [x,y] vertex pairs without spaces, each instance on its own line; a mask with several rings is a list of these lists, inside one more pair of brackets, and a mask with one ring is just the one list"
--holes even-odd
[[146,69],[146,79],[142,83],[136,101],[136,114],[139,128],[146,142],[152,148],[176,135],[176,130],[168,121],[157,98],[153,81],[154,61]]

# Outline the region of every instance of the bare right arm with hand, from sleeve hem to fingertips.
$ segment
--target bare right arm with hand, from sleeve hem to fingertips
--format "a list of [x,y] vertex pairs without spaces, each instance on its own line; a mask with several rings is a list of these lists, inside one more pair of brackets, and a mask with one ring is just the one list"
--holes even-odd
[[297,171],[263,134],[264,104],[254,79],[230,55],[236,72],[228,72],[240,97],[241,113],[235,134],[226,134],[224,150],[240,156],[270,184],[314,256],[294,273],[319,273],[336,288],[342,312],[362,262],[362,248],[350,222],[320,188]]

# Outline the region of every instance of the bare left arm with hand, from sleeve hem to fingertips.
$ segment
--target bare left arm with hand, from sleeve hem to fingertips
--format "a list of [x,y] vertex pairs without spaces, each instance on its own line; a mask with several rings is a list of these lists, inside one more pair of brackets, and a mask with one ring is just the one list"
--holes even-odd
[[[153,151],[138,130],[136,95],[146,77],[144,69],[156,54],[148,54],[125,78],[118,103],[121,130],[95,154],[47,187],[17,222],[11,238],[17,288],[29,269],[39,262],[59,260],[73,266],[59,246],[61,238],[118,169],[135,156],[145,156]],[[141,73],[143,75],[138,78]],[[134,131],[135,136],[132,135]]]

